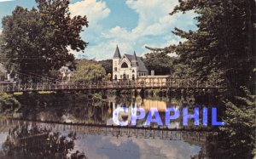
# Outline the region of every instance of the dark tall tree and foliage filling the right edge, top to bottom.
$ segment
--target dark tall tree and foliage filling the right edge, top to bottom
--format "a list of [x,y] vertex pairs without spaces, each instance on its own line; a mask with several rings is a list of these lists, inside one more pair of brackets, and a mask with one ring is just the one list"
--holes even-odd
[[198,30],[175,28],[172,32],[187,39],[185,42],[150,49],[178,54],[177,63],[189,65],[192,77],[201,80],[216,77],[227,83],[226,91],[220,95],[220,100],[226,101],[220,104],[226,121],[222,134],[228,142],[224,149],[236,158],[245,154],[252,158],[253,152],[255,155],[255,138],[252,137],[255,136],[255,103],[247,92],[255,95],[256,88],[255,1],[181,0],[171,14],[189,10],[197,14]]

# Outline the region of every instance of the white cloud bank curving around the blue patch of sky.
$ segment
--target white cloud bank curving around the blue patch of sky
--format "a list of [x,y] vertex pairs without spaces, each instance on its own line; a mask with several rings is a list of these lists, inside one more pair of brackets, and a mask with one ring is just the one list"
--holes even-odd
[[71,4],[70,9],[73,15],[86,14],[89,19],[89,28],[82,34],[84,40],[90,43],[85,48],[85,55],[102,60],[112,58],[116,44],[119,44],[121,54],[132,54],[135,50],[138,55],[143,55],[148,52],[144,48],[146,45],[164,48],[182,41],[171,31],[175,26],[183,29],[193,25],[195,14],[169,15],[177,3],[178,0],[127,0],[126,5],[138,14],[137,26],[131,30],[120,26],[105,30],[101,26],[100,21],[108,18],[110,13],[105,2],[83,0]]

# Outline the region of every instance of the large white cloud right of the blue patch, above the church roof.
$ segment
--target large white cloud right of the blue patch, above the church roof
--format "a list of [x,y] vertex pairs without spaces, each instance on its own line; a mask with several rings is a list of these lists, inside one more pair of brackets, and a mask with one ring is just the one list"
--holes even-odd
[[[145,46],[154,48],[164,48],[170,44],[177,44],[183,39],[172,35],[171,31],[175,26],[193,25],[195,14],[189,13],[170,15],[169,13],[177,5],[178,1],[173,0],[128,0],[126,4],[134,9],[139,17],[137,27],[128,31],[126,28],[116,26],[105,33],[105,37],[118,39],[118,41],[129,43],[133,49],[138,49],[139,55],[143,55],[148,50]],[[179,20],[185,18],[186,21]],[[160,36],[160,37],[157,37]],[[159,39],[161,38],[161,41]],[[129,50],[132,53],[133,49]],[[113,50],[113,48],[112,48]],[[176,55],[176,54],[172,54]]]

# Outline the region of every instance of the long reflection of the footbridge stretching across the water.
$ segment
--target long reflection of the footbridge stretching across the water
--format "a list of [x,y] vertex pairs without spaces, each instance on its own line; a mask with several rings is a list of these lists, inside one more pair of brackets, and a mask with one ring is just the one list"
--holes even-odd
[[[214,132],[208,132],[199,129],[182,128],[137,128],[137,127],[118,127],[98,124],[72,124],[60,122],[35,122],[25,120],[0,120],[1,132],[8,132],[17,126],[30,125],[32,127],[48,129],[54,132],[73,131],[75,133],[106,135],[119,137],[136,137],[144,139],[168,139],[184,140],[196,145],[204,145],[207,137]],[[215,132],[216,133],[216,132]]]

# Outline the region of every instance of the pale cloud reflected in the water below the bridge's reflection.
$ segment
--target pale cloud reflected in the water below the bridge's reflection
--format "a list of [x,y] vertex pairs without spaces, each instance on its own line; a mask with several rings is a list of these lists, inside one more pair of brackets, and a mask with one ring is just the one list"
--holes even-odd
[[114,147],[122,147],[125,143],[137,145],[137,148],[127,146],[127,149],[136,151],[140,154],[140,159],[147,158],[189,158],[198,152],[198,146],[189,145],[183,141],[173,141],[164,139],[137,139],[137,138],[119,138],[103,137],[102,142],[110,142]]

